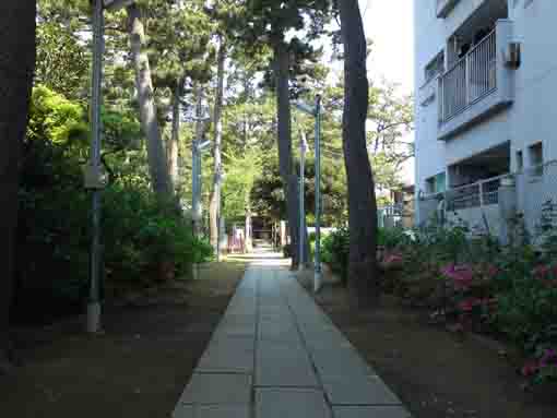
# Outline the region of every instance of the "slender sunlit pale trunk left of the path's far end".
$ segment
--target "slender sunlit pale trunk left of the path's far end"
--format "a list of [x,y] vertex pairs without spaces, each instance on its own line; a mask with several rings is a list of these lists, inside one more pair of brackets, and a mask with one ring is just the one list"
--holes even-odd
[[225,77],[225,69],[224,63],[226,60],[226,44],[221,39],[221,45],[218,47],[218,55],[216,58],[217,70],[216,70],[216,92],[215,92],[215,105],[214,105],[214,119],[213,122],[215,124],[214,131],[214,141],[213,141],[213,187],[211,189],[211,202],[209,205],[209,228],[211,236],[211,244],[213,246],[215,252],[218,247],[218,222],[221,214],[221,192],[222,192],[222,156],[221,156],[221,147],[223,140],[223,95],[224,95],[224,77]]

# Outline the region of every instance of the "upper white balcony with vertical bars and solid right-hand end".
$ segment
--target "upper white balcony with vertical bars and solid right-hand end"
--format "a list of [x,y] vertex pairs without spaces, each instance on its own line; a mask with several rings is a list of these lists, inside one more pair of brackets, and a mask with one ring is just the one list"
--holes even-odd
[[487,36],[439,77],[439,129],[447,140],[513,100],[512,70],[505,63],[512,23],[499,20]]

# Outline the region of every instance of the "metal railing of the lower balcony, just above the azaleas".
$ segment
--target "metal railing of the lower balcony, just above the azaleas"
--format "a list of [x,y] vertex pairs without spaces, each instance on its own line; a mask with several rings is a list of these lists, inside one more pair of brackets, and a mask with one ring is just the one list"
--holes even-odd
[[453,212],[498,204],[501,179],[509,176],[502,175],[472,184],[449,189],[445,193],[447,211]]

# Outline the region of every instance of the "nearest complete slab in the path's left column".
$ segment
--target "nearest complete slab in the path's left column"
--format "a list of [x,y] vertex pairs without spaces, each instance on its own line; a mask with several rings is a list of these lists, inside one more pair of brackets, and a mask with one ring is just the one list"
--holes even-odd
[[193,373],[180,404],[249,405],[251,377],[248,374]]

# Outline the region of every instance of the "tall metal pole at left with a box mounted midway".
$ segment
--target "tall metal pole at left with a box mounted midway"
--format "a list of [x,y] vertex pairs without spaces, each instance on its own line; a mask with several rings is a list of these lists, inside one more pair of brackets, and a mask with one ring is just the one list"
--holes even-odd
[[[103,1],[96,0],[93,5],[93,76],[91,85],[91,169],[97,177],[100,174],[100,87],[103,83],[103,51],[105,21]],[[87,332],[100,331],[100,189],[92,192],[92,241],[90,265],[90,294],[87,302]]]

